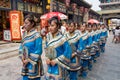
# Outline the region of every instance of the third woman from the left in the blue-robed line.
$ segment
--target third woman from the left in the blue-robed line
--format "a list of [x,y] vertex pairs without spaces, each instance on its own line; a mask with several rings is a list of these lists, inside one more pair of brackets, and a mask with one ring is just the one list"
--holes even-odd
[[[80,39],[80,35],[78,32],[75,32],[76,27],[75,27],[75,23],[71,22],[68,26],[68,33],[65,35],[67,37],[67,40],[72,48],[72,57],[70,59],[70,64],[71,66],[79,66],[80,67],[80,58],[77,55],[77,51],[79,50],[78,46],[79,46],[79,39]],[[77,69],[78,67],[76,67],[75,70],[69,70],[69,78],[70,80],[78,80],[78,74],[77,71],[79,69]]]

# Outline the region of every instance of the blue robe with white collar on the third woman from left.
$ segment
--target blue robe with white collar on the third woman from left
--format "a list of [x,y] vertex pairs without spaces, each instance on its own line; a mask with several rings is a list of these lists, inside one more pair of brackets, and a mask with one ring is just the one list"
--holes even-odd
[[76,67],[74,70],[69,72],[70,80],[77,80],[77,71],[81,68],[79,63],[80,58],[77,56],[80,35],[78,32],[73,32],[71,34],[68,32],[65,36],[67,37],[67,40],[72,48],[72,54],[75,54],[75,56],[70,59],[71,66]]

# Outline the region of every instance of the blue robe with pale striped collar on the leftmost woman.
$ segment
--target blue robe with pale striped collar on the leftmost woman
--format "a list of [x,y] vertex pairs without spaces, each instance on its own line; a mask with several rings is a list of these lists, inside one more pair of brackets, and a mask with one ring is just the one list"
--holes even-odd
[[32,29],[23,37],[19,48],[20,58],[28,60],[27,65],[23,65],[22,75],[34,79],[43,75],[43,66],[41,61],[42,38],[37,30]]

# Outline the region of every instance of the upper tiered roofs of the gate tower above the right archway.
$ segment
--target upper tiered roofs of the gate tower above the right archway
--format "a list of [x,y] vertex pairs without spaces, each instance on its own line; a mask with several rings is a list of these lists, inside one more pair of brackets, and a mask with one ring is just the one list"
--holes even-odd
[[99,0],[103,21],[109,25],[110,19],[120,19],[120,0]]

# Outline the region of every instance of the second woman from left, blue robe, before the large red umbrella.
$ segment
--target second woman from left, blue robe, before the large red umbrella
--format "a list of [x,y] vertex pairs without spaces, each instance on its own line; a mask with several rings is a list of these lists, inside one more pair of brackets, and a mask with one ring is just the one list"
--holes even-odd
[[49,20],[49,30],[46,40],[47,73],[45,80],[66,80],[65,69],[70,62],[71,47],[65,36],[59,32],[58,17]]

